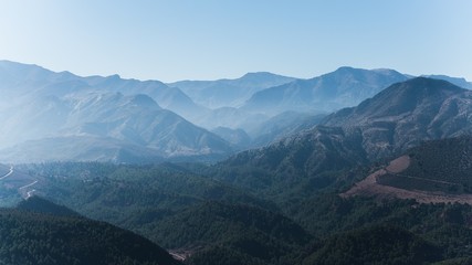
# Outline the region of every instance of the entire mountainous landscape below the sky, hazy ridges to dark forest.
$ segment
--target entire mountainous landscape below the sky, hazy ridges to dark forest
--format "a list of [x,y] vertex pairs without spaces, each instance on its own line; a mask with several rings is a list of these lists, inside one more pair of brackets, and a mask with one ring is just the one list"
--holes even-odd
[[0,263],[178,264],[161,245],[192,265],[469,264],[468,84],[352,67],[164,84],[1,61],[0,204],[20,203],[0,209]]

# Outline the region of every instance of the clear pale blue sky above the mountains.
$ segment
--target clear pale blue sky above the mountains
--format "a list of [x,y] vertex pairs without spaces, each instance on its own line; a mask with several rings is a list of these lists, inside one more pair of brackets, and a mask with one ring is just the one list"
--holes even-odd
[[0,0],[0,60],[164,82],[339,66],[472,81],[472,1]]

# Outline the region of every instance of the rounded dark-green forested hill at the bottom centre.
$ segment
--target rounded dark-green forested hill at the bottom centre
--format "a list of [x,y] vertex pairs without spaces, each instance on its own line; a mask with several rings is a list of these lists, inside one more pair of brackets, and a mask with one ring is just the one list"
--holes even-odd
[[217,202],[190,208],[158,226],[167,246],[198,250],[189,264],[291,264],[293,253],[313,240],[283,215]]

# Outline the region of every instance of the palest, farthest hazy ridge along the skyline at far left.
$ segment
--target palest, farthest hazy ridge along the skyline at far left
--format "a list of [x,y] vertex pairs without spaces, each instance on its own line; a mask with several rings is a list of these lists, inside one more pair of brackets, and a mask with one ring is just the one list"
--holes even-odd
[[0,61],[0,91],[10,96],[9,99],[25,94],[63,96],[87,91],[120,93],[125,96],[145,94],[164,108],[178,114],[201,110],[185,93],[159,81],[124,80],[119,75],[81,77],[70,72],[55,73],[38,65],[4,60]]

